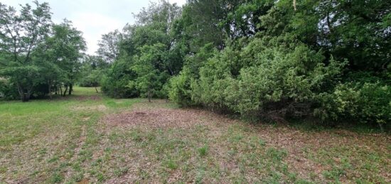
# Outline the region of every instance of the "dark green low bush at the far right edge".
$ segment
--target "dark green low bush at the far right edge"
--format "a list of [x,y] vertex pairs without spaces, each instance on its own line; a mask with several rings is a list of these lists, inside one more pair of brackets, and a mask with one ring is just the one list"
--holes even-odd
[[317,114],[327,112],[334,121],[379,124],[382,129],[391,122],[391,87],[381,82],[346,82],[321,102]]

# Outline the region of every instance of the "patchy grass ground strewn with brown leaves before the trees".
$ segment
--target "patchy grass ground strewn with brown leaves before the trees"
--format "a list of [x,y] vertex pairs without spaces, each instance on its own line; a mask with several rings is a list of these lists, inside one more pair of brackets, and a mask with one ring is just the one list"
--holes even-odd
[[248,124],[164,100],[0,102],[0,183],[391,183],[391,136]]

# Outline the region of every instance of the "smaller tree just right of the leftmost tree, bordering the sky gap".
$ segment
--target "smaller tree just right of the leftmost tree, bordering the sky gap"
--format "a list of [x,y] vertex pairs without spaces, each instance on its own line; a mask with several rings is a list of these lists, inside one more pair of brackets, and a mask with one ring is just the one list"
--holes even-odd
[[[48,85],[53,85],[54,81],[61,82],[65,86],[65,93],[72,94],[73,85],[77,80],[79,72],[80,59],[86,48],[85,40],[82,38],[82,32],[73,28],[72,22],[64,20],[63,23],[52,26],[51,36],[48,37],[40,47],[40,53],[37,53],[37,60],[48,70],[43,75],[48,75]],[[48,63],[42,63],[46,60]],[[54,71],[60,72],[55,75]],[[61,79],[61,80],[59,80]],[[69,88],[69,90],[68,90]]]

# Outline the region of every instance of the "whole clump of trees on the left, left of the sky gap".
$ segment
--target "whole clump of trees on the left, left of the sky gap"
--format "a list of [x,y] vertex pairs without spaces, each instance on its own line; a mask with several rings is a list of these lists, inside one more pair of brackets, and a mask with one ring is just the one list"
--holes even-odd
[[23,102],[75,82],[85,42],[70,21],[51,22],[47,3],[33,1],[17,12],[0,4],[0,76],[16,87]]

